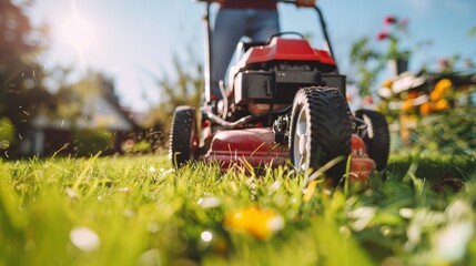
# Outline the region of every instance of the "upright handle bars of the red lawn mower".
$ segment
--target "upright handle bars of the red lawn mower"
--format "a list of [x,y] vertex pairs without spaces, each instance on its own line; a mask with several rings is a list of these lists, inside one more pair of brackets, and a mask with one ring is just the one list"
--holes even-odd
[[[210,25],[210,7],[212,3],[214,2],[220,2],[220,0],[193,0],[194,2],[205,2],[206,3],[206,8],[205,8],[205,14],[203,17],[203,22],[205,23],[206,27],[206,31],[205,31],[205,62],[204,62],[204,68],[205,68],[205,101],[206,103],[211,102],[211,73],[212,73],[212,53],[211,53],[211,49],[212,49],[212,29]],[[291,4],[295,4],[297,6],[297,2],[294,0],[266,0],[267,2],[275,2],[275,3],[291,3]],[[331,57],[334,59],[334,61],[336,61],[335,59],[335,54],[334,54],[334,50],[333,47],[331,44],[331,38],[327,33],[327,27],[324,20],[324,16],[321,11],[321,9],[317,6],[314,7],[310,7],[310,8],[314,8],[314,10],[317,13],[318,17],[318,22],[321,25],[321,30],[324,34],[324,41],[325,44],[327,45],[328,52],[331,53]],[[338,72],[338,69],[336,66],[336,71]]]

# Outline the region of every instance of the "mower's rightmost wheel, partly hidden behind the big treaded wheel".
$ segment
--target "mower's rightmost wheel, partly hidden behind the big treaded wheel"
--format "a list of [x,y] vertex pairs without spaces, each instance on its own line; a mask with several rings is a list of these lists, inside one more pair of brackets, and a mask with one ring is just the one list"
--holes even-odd
[[391,152],[388,124],[382,113],[373,110],[357,110],[355,116],[367,125],[365,130],[358,132],[358,135],[364,140],[367,154],[375,161],[376,168],[382,171],[387,166]]

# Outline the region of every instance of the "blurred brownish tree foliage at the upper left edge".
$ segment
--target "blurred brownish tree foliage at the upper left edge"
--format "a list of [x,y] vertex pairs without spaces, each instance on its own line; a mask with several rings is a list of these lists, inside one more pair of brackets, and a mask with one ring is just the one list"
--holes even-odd
[[34,38],[44,32],[30,24],[27,3],[0,1],[0,117],[9,117],[20,135],[50,100],[42,85],[44,70],[37,61],[43,48]]

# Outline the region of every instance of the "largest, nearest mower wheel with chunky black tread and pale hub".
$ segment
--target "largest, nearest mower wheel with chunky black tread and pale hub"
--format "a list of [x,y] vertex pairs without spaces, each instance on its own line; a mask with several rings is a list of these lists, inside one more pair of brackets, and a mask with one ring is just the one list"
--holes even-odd
[[317,171],[330,161],[342,161],[326,171],[337,185],[351,153],[352,114],[338,89],[300,90],[291,114],[290,155],[298,172]]

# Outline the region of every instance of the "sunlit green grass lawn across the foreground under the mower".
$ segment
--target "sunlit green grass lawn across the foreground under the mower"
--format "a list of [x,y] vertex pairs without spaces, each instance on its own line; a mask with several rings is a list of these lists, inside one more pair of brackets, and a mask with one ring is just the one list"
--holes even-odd
[[393,155],[348,191],[165,156],[0,162],[0,266],[476,265],[475,160]]

